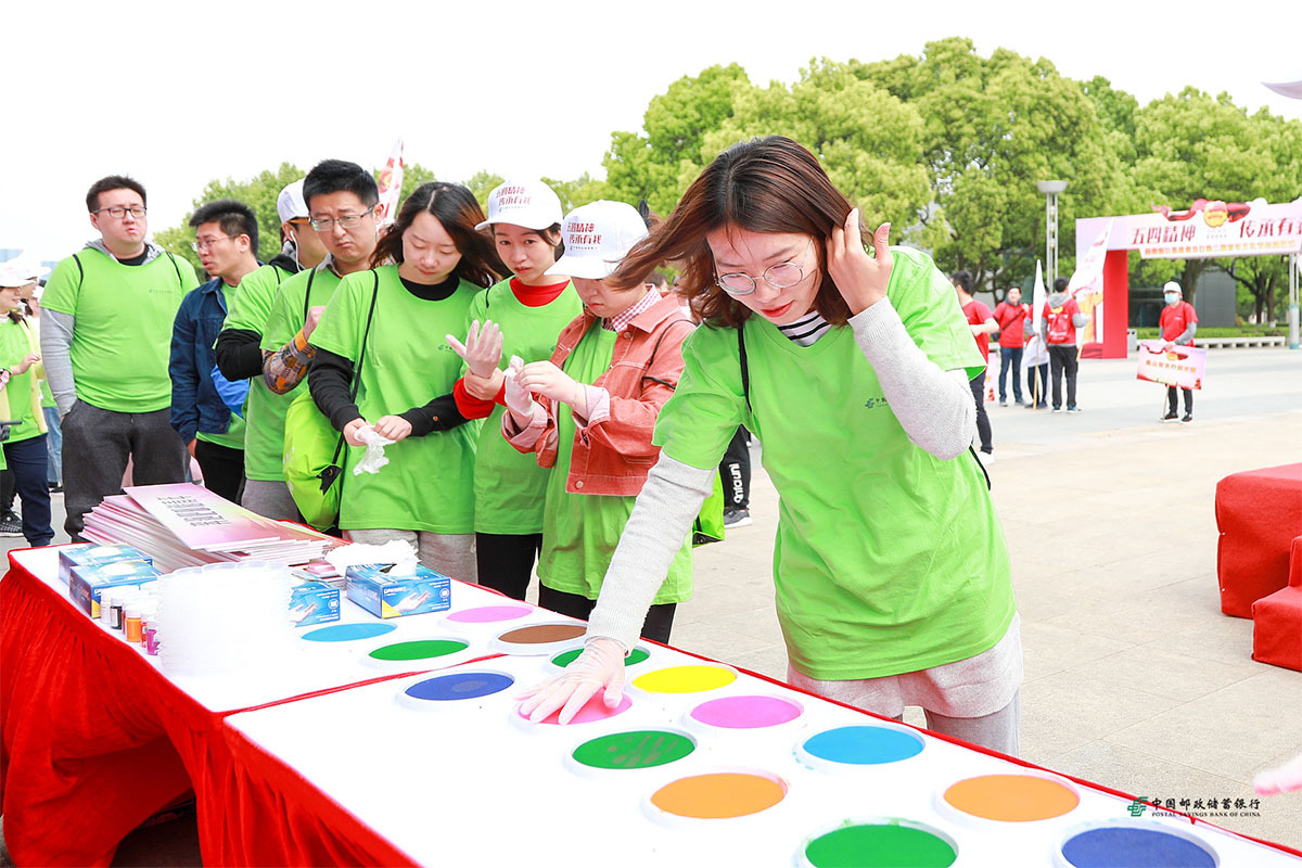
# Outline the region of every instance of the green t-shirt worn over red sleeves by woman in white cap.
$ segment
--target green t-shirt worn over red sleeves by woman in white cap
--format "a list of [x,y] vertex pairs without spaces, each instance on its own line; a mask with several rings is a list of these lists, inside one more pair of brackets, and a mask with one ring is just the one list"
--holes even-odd
[[[526,363],[546,362],[556,350],[556,338],[570,320],[583,312],[574,285],[542,307],[522,305],[510,281],[483,290],[470,303],[469,319],[492,320],[501,327],[501,359],[512,355]],[[457,337],[465,340],[466,329]],[[480,534],[538,534],[543,530],[543,497],[547,476],[533,454],[522,454],[501,436],[501,414],[493,407],[479,433],[475,455],[475,530]]]

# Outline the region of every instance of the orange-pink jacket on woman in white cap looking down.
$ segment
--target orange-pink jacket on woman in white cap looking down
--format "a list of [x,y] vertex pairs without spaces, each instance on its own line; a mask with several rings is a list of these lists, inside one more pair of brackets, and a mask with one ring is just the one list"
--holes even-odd
[[[565,367],[565,359],[596,319],[583,311],[561,329],[552,364]],[[574,432],[565,491],[617,497],[635,497],[642,491],[647,472],[660,457],[660,448],[651,445],[655,420],[678,385],[682,341],[693,328],[677,298],[669,295],[638,314],[620,332],[611,367],[592,384],[609,393],[611,415]],[[508,439],[521,452],[536,452],[540,467],[555,467],[556,402],[542,396],[538,402],[547,411],[543,436],[530,446]]]

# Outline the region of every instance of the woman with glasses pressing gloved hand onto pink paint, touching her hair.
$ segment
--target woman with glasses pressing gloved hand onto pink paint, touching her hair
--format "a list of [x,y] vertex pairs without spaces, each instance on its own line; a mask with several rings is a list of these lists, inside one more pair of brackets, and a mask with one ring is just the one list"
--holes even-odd
[[684,260],[706,316],[656,424],[638,497],[566,673],[522,709],[618,701],[624,655],[738,424],[777,488],[773,582],[799,688],[1017,753],[1022,652],[1008,550],[976,457],[983,364],[924,254],[862,242],[818,160],[769,137],[719,155],[609,278]]

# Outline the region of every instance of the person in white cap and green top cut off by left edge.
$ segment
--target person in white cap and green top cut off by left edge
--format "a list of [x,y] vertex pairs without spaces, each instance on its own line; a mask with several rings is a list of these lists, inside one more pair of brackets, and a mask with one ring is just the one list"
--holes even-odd
[[33,547],[49,545],[49,483],[46,480],[46,414],[40,406],[38,337],[23,316],[22,298],[35,288],[29,268],[0,265],[0,419],[14,422],[4,459],[22,500],[22,535]]

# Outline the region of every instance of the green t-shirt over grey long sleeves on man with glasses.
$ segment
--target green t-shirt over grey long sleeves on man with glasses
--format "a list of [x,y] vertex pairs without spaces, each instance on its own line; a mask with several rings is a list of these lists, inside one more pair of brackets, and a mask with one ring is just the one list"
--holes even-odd
[[85,249],[55,265],[40,303],[76,318],[69,354],[77,397],[115,413],[172,406],[168,360],[172,324],[194,289],[194,269],[163,252],[143,265],[124,265]]

